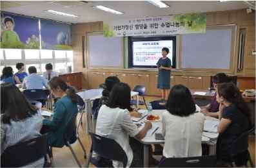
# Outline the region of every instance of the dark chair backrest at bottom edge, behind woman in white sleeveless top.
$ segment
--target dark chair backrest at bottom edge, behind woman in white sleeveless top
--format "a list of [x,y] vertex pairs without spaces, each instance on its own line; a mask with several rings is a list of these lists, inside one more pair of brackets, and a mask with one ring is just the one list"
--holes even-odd
[[188,158],[165,158],[158,167],[215,167],[215,155],[195,156]]

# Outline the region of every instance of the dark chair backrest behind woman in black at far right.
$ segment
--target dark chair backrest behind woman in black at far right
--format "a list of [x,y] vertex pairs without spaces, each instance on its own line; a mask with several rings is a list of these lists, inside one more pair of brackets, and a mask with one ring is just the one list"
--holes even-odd
[[253,128],[242,133],[237,139],[230,144],[230,154],[235,156],[238,153],[242,153],[248,149],[248,137],[251,132],[255,131],[255,125]]

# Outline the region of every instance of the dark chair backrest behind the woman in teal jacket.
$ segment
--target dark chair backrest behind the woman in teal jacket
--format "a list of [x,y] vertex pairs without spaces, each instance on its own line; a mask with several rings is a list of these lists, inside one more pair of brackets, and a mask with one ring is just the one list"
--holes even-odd
[[76,125],[76,120],[77,119],[77,113],[75,113],[70,121],[66,124],[66,128],[63,134],[63,139],[65,145],[67,145],[67,142],[69,144],[73,144],[75,140],[77,140],[77,125]]

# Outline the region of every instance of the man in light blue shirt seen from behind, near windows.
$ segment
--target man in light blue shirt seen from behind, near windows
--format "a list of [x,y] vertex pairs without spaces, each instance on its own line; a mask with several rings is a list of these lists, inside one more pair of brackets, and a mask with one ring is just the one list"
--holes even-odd
[[22,88],[26,89],[49,89],[47,80],[37,74],[37,69],[32,66],[28,67],[29,75],[24,78]]

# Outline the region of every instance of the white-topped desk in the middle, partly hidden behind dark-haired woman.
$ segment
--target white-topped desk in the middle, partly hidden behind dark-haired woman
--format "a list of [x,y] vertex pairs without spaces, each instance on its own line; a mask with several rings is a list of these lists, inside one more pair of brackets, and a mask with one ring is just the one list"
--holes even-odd
[[[103,93],[102,88],[98,89],[89,89],[85,90],[83,92],[78,92],[77,94],[82,97],[84,100],[95,100],[95,99],[100,99]],[[137,108],[139,107],[139,92],[133,92],[131,91],[131,97],[136,98],[136,106]]]

